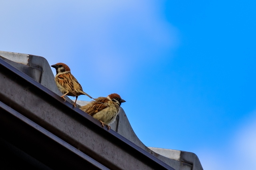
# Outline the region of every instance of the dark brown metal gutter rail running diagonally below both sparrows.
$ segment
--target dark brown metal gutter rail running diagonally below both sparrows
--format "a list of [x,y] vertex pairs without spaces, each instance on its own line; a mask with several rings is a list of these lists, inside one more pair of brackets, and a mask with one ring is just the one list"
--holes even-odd
[[2,59],[0,89],[0,137],[48,168],[174,170]]

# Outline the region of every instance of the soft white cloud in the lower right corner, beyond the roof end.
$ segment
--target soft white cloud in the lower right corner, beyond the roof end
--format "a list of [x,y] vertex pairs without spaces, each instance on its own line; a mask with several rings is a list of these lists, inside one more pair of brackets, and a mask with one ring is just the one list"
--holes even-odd
[[204,170],[256,169],[256,111],[244,120],[230,142],[198,152]]

